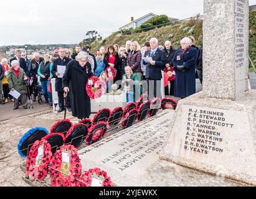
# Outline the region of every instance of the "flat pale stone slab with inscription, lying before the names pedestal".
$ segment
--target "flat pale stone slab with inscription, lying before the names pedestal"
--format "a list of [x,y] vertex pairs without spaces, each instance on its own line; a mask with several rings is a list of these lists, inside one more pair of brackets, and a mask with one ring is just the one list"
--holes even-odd
[[79,150],[84,170],[105,170],[116,186],[242,186],[159,159],[173,110],[165,110],[128,129]]

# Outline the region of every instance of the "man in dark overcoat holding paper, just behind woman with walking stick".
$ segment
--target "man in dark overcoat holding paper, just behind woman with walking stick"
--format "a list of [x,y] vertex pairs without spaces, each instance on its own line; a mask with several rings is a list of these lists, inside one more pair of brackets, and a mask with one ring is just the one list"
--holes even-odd
[[[60,76],[60,73],[58,72],[58,65],[67,67],[68,63],[71,60],[72,60],[71,58],[65,57],[65,49],[60,48],[59,49],[59,58],[56,58],[52,65],[51,73],[55,78],[55,91],[57,91],[58,98],[59,98],[59,108],[60,109],[59,109],[58,113],[65,110],[65,108],[64,108],[64,91],[62,88],[62,77]],[[69,109],[69,111],[71,111],[69,94],[67,95],[67,108]]]

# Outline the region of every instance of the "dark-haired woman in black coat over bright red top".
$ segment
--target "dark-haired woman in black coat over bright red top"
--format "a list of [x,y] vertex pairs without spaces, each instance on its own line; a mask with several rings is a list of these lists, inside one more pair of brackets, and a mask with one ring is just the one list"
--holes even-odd
[[118,52],[115,51],[115,47],[113,47],[113,45],[108,46],[107,53],[105,53],[103,61],[106,65],[106,68],[108,68],[109,66],[115,68],[116,77],[114,82],[117,80],[121,80],[120,58],[119,58]]

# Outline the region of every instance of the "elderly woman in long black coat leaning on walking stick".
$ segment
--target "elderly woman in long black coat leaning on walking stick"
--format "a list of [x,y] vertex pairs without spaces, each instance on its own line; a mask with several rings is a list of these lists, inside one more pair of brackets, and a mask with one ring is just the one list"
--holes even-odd
[[89,118],[91,114],[90,98],[87,95],[85,86],[88,78],[93,76],[93,73],[87,60],[87,53],[78,53],[77,60],[69,62],[62,78],[64,91],[70,91],[72,116],[78,119]]

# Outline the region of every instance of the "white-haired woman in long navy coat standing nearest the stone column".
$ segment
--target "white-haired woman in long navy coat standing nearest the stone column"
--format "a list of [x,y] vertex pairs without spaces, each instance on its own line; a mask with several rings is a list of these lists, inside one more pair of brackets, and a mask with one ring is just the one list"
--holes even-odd
[[184,37],[181,49],[176,50],[173,66],[176,73],[174,96],[186,98],[196,93],[196,58],[197,50],[190,47],[191,40]]

